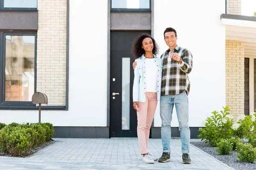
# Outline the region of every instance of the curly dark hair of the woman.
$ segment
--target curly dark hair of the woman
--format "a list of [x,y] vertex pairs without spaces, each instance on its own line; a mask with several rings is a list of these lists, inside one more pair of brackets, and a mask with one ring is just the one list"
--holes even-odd
[[134,40],[133,45],[132,45],[132,54],[134,55],[134,57],[136,59],[141,57],[142,54],[145,54],[145,50],[143,48],[141,48],[142,42],[145,38],[151,38],[153,45],[154,45],[152,52],[154,55],[158,54],[159,47],[158,47],[156,41],[154,40],[154,38],[151,37],[151,35],[149,35],[149,34],[141,34]]

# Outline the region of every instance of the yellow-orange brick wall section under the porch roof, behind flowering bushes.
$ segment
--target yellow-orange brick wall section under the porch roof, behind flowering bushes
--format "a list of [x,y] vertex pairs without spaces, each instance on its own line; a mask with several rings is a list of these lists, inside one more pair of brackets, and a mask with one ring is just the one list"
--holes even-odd
[[244,42],[226,40],[226,105],[231,116],[244,114]]

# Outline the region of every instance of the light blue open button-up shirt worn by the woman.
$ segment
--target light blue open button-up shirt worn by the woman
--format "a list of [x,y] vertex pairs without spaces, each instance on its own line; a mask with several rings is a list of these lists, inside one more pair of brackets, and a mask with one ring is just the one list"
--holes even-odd
[[[134,69],[133,101],[146,102],[146,78],[145,78],[145,57],[144,54],[135,59],[137,66]],[[154,55],[154,62],[157,65],[157,100],[160,100],[162,80],[162,59]]]

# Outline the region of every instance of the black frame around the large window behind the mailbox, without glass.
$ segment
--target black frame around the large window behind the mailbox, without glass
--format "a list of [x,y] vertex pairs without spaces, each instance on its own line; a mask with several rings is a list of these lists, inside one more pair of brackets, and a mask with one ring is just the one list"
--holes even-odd
[[20,102],[20,101],[5,101],[5,50],[6,50],[6,35],[17,36],[35,36],[35,61],[34,61],[34,93],[36,92],[36,80],[37,80],[37,32],[26,31],[0,31],[0,108],[1,107],[28,107],[33,106],[32,101]]

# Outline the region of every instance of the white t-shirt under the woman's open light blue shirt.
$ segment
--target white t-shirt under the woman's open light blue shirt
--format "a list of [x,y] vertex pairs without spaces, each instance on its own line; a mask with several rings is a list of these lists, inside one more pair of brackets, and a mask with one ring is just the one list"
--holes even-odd
[[157,92],[157,65],[154,58],[145,59],[146,92]]

